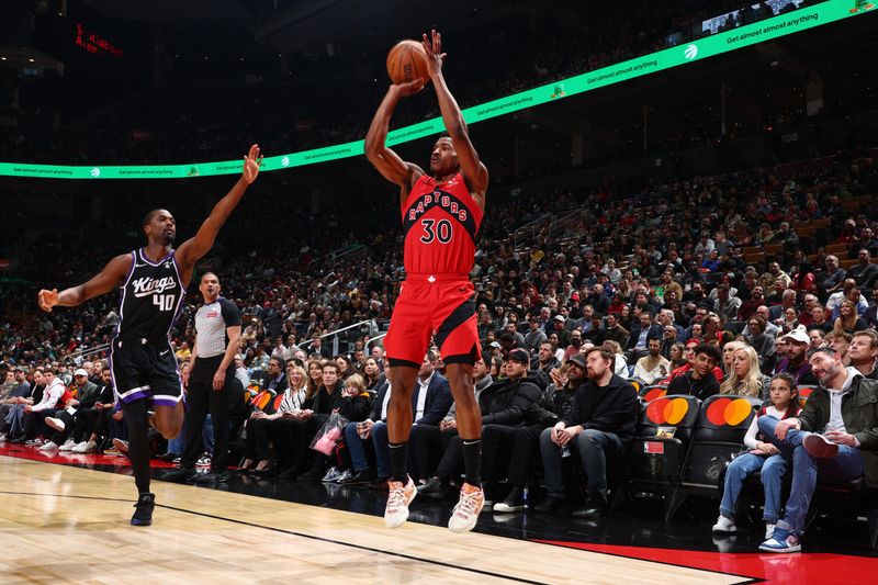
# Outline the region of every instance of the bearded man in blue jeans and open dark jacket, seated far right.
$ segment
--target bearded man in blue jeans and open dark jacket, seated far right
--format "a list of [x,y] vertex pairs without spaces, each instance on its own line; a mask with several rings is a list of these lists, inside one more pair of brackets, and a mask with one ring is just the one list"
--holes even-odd
[[[868,487],[878,486],[878,381],[856,368],[845,368],[841,357],[822,347],[808,352],[820,382],[798,417],[777,420],[758,417],[759,431],[792,461],[792,485],[784,518],[759,545],[766,552],[801,550],[806,517],[818,476],[832,483],[865,475]],[[822,435],[820,435],[822,434]]]

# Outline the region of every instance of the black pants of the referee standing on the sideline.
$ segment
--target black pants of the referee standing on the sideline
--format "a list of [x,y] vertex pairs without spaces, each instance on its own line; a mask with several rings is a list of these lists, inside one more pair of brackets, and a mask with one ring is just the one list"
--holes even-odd
[[211,471],[223,472],[228,468],[228,394],[235,380],[234,363],[226,370],[226,383],[222,390],[213,389],[213,376],[223,362],[223,356],[201,358],[195,360],[195,365],[189,374],[189,389],[187,390],[185,419],[185,447],[180,459],[180,468],[194,469],[195,463],[204,451],[201,439],[204,429],[204,419],[207,410],[213,421],[213,458]]

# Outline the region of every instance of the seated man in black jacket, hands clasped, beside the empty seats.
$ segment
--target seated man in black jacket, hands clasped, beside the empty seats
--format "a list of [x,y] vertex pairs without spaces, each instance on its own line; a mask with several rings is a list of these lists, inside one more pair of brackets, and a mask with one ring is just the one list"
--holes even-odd
[[564,498],[561,470],[565,449],[578,453],[586,476],[585,507],[576,517],[594,518],[607,504],[607,459],[622,459],[638,420],[634,387],[612,373],[615,356],[601,348],[585,353],[588,381],[576,389],[570,414],[540,435],[540,453],[545,470],[547,499],[536,511],[558,509]]

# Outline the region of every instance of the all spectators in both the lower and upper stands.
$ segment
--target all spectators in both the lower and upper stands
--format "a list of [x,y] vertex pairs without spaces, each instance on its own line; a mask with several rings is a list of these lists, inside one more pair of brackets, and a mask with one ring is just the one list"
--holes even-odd
[[[588,46],[573,49],[589,55],[588,69],[663,48],[666,31],[641,21],[668,21],[671,5],[646,3],[630,27],[607,26],[579,40]],[[640,34],[644,30],[650,32]],[[524,89],[517,80],[532,80],[534,70],[544,69],[540,75],[548,81],[584,69],[565,58],[564,43],[540,45],[544,50],[533,53],[537,60],[513,59],[520,75],[487,93]],[[266,100],[260,110],[307,111],[307,104],[290,105],[303,99],[294,89],[260,98]],[[114,161],[142,162],[179,161],[177,147],[192,144],[192,136],[204,160],[226,157],[232,142],[255,142],[249,133],[256,127],[279,143],[289,138],[293,119],[249,124],[237,117],[232,128],[233,119],[221,106],[192,108],[211,91],[189,88],[183,98],[168,98],[182,99],[184,105],[170,111],[185,114],[170,114],[166,128],[153,131],[165,145],[158,150],[150,142],[143,151],[122,148],[119,136],[79,140],[78,149],[67,149],[63,138],[54,144],[74,157],[69,161],[94,156],[89,144],[116,144]],[[238,92],[228,103],[240,103],[257,90],[228,91]],[[334,110],[336,126],[307,121],[296,132],[314,132],[301,144],[361,136],[361,124],[379,101],[378,93],[371,101],[363,94],[360,88],[339,90],[339,100],[363,103],[368,111]],[[461,101],[475,103],[485,94],[483,87],[463,91]],[[320,98],[307,99],[315,112],[327,110]],[[124,112],[117,115],[126,119]],[[58,161],[59,150],[46,155]],[[819,468],[807,458],[832,454],[846,464],[853,459],[848,450],[862,449],[860,468],[845,466],[835,479],[865,475],[869,487],[878,486],[873,457],[878,420],[867,407],[857,409],[844,400],[847,392],[859,393],[864,405],[878,397],[873,382],[878,380],[876,155],[858,148],[655,182],[637,192],[608,184],[545,196],[492,199],[488,193],[471,277],[482,347],[474,391],[483,414],[482,475],[493,499],[489,509],[504,514],[527,506],[551,514],[573,507],[579,517],[606,514],[608,497],[618,490],[610,481],[618,474],[612,469],[624,468],[632,457],[648,404],[667,396],[686,397],[693,412],[707,412],[724,396],[748,401],[747,413],[756,409],[757,416],[751,413],[739,429],[742,452],[720,486],[717,532],[735,530],[742,485],[757,470],[765,486],[766,545],[780,551],[793,550],[801,539],[802,508],[808,507],[802,486]],[[266,203],[263,209],[278,211],[274,200]],[[193,221],[198,209],[183,201],[173,211]],[[564,222],[510,233],[537,217],[559,217],[562,210]],[[402,241],[398,233],[362,225],[354,235],[346,227],[350,217],[342,215],[314,218],[324,229],[284,234],[282,246],[255,238],[251,248],[237,243],[210,259],[223,294],[244,319],[238,391],[230,397],[240,473],[386,487],[392,386],[381,337],[405,277]],[[133,226],[137,220],[114,218]],[[263,217],[243,214],[237,227],[259,234],[263,226]],[[340,248],[348,252],[338,254]],[[95,258],[106,250],[70,249],[47,239],[33,254],[38,257],[21,275],[60,288],[95,272]],[[112,443],[124,452],[125,425],[113,405],[105,352],[120,319],[114,300],[43,314],[30,288],[3,286],[2,439],[76,453]],[[191,356],[199,304],[194,295],[189,301],[171,330],[182,369]],[[424,496],[449,493],[462,468],[454,403],[442,371],[442,357],[428,351],[413,403],[409,471]],[[813,441],[797,432],[828,427],[828,437],[837,439],[828,443],[833,453],[832,447],[809,445]],[[662,428],[658,432],[675,431]],[[211,449],[207,434],[205,453]],[[179,441],[165,445],[156,437],[157,457],[172,460],[182,451]],[[584,479],[572,468],[581,468]],[[785,474],[792,475],[793,485],[787,503],[779,488]]]

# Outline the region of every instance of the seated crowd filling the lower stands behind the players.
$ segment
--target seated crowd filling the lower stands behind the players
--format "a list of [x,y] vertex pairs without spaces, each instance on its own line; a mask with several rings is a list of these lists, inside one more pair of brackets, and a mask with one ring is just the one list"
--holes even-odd
[[[483,476],[493,509],[521,509],[528,487],[538,485],[541,462],[548,493],[528,504],[534,511],[570,504],[571,483],[578,481],[573,492],[585,499],[575,513],[605,513],[611,487],[595,449],[610,462],[627,457],[639,428],[634,387],[706,405],[717,395],[744,396],[764,403],[769,418],[809,420],[810,427],[800,427],[818,431],[820,416],[806,403],[810,418],[793,418],[789,395],[830,378],[875,392],[871,382],[860,382],[878,378],[875,155],[840,153],[652,185],[627,199],[609,192],[543,198],[529,203],[528,217],[560,201],[565,209],[578,203],[577,221],[556,230],[547,225],[517,243],[508,226],[515,217],[522,221],[520,202],[489,200],[471,275],[483,350],[475,368],[485,425]],[[401,243],[373,236],[368,256],[337,258],[317,273],[289,268],[283,254],[270,250],[224,252],[219,279],[245,325],[240,394],[234,398],[243,472],[378,487],[386,482],[384,419],[392,389],[380,334],[404,274]],[[95,269],[90,263],[80,256],[53,275],[59,285],[79,281]],[[183,364],[195,306],[189,303],[172,331]],[[109,370],[100,352],[119,322],[112,301],[52,314],[14,313],[26,317],[3,324],[5,438],[34,445],[42,438],[43,449],[90,452],[115,437],[124,450],[124,421],[108,400]],[[354,324],[330,349],[333,331]],[[81,358],[92,349],[99,351]],[[442,369],[441,356],[425,357],[423,397],[413,405],[410,472],[424,495],[444,494],[460,476],[460,440]],[[601,393],[608,398],[596,397]],[[865,434],[849,436],[870,455],[874,421],[849,419],[846,408],[841,428],[866,425]],[[344,415],[338,446],[309,449],[333,413]],[[763,471],[767,482],[783,475],[773,459],[783,448],[768,446],[762,419],[742,440],[765,465],[775,465],[768,468],[774,474]],[[173,457],[168,449],[166,455]],[[564,471],[571,452],[581,455],[584,482]],[[865,455],[869,483],[874,461]],[[730,470],[742,479],[757,463],[748,458]],[[729,483],[718,531],[733,527],[736,497]],[[769,532],[783,521],[779,506],[766,505]],[[796,544],[783,540],[781,549]]]

